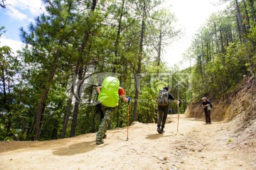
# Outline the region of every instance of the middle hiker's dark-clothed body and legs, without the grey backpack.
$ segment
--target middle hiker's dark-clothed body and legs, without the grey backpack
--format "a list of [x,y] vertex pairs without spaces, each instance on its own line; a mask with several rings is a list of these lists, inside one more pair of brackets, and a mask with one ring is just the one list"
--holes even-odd
[[[166,90],[167,92],[169,91],[169,88],[166,86],[163,89]],[[169,99],[169,101],[174,101],[175,103],[178,104],[178,101],[176,101],[176,99],[173,96],[171,96],[171,94],[168,94],[168,99]],[[157,132],[159,132],[159,134],[161,134],[164,132],[164,125],[166,123],[169,104],[164,105],[164,106],[158,104],[157,108],[158,108],[158,113],[159,113],[159,118],[157,120]]]

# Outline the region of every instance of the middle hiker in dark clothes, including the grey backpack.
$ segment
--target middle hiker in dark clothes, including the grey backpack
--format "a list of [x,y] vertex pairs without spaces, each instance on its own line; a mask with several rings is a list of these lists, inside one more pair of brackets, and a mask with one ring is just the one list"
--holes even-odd
[[174,103],[179,103],[171,94],[169,94],[169,88],[164,87],[159,91],[159,95],[156,99],[157,108],[159,113],[159,118],[157,120],[157,132],[159,134],[164,133],[164,125],[166,123],[166,118],[169,110],[169,101],[174,101]]

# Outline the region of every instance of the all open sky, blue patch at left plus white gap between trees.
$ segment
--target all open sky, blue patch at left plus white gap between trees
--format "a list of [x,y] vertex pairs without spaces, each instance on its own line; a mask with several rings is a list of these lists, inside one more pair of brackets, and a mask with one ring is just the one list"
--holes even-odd
[[[213,6],[219,0],[166,0],[164,8],[170,8],[178,20],[178,27],[183,29],[183,36],[165,47],[162,59],[169,67],[183,60],[185,52],[191,44],[193,35],[206,23],[211,13],[219,11],[223,6]],[[6,8],[0,8],[0,26],[6,28],[0,38],[0,46],[8,45],[14,51],[21,49],[20,28],[27,30],[29,23],[43,13],[41,0],[6,0]],[[188,67],[186,61],[183,67]]]

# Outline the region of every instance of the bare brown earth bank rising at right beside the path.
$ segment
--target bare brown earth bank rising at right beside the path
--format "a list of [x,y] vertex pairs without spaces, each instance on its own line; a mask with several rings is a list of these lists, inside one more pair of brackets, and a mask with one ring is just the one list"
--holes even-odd
[[[227,122],[238,145],[256,142],[256,78],[246,79],[221,98],[212,101],[213,121]],[[201,103],[191,103],[185,113],[188,117],[204,119]]]

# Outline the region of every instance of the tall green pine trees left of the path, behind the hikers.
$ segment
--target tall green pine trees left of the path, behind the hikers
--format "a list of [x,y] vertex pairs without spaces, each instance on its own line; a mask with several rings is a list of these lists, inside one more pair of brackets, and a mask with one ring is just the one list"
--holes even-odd
[[[99,123],[92,103],[97,101],[95,86],[102,78],[91,82],[90,77],[102,72],[121,74],[119,81],[126,96],[134,99],[139,57],[143,75],[137,117],[142,123],[154,123],[157,92],[162,86],[171,86],[169,77],[156,77],[160,72],[170,74],[159,54],[181,33],[174,28],[174,15],[156,8],[161,2],[44,1],[47,15],[38,16],[27,31],[21,28],[26,43],[23,50],[14,57],[9,47],[0,49],[1,89],[8,84],[1,91],[0,140],[34,140],[38,125],[39,140],[58,139],[68,114],[64,137],[74,129],[71,125],[76,118],[75,135],[96,132]],[[143,7],[146,12],[142,15]],[[140,46],[142,19],[146,26]],[[160,41],[161,49],[156,49]],[[122,128],[126,123],[127,103],[119,98],[110,128]]]

